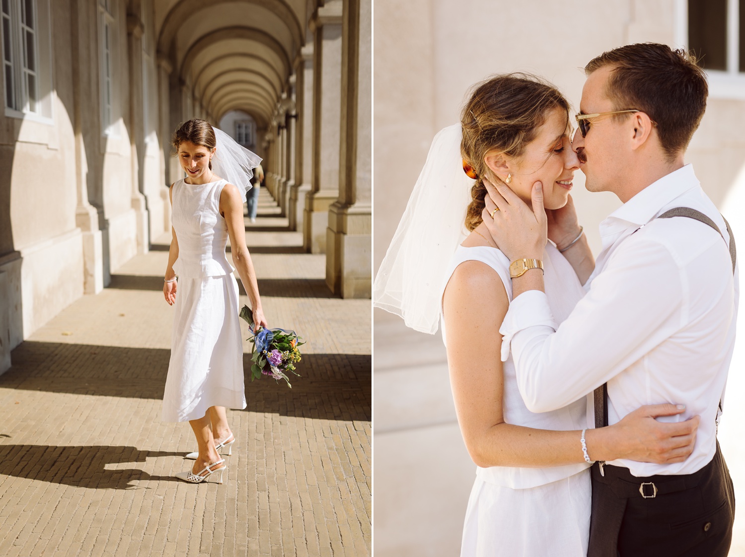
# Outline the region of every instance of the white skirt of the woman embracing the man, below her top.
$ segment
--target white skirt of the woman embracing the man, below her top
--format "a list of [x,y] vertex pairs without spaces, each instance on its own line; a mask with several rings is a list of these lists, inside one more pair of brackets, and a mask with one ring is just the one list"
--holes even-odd
[[527,489],[476,481],[461,557],[585,557],[590,532],[589,469]]

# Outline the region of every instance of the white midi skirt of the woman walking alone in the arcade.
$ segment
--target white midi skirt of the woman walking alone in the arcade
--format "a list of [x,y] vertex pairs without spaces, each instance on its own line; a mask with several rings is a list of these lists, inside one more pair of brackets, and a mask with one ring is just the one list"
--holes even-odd
[[243,409],[238,282],[232,275],[179,278],[163,421],[202,418],[211,406]]

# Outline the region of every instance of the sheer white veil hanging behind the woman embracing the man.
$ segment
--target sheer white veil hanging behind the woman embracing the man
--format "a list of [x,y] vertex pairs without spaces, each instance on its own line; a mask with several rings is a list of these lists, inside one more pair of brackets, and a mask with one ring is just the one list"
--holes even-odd
[[434,334],[450,259],[467,231],[473,179],[463,172],[460,124],[434,136],[422,174],[375,276],[373,305]]

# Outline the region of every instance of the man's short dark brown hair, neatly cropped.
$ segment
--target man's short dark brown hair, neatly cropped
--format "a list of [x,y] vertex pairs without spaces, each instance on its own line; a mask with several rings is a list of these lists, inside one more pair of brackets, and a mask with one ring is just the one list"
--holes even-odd
[[706,111],[708,84],[694,55],[654,42],[637,43],[603,52],[585,66],[585,74],[605,66],[612,66],[606,95],[614,109],[646,112],[668,159],[675,159],[688,147]]

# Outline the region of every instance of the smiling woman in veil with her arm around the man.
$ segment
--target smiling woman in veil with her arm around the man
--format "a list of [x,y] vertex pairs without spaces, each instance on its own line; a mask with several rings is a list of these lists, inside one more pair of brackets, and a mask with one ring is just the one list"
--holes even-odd
[[475,86],[460,124],[435,137],[375,278],[375,305],[418,331],[434,334],[442,323],[458,423],[478,467],[461,556],[586,555],[590,463],[681,462],[696,438],[698,417],[654,419],[681,405],[644,406],[595,429],[592,393],[545,413],[521,398],[498,333],[512,297],[510,260],[482,223],[482,179],[501,179],[528,204],[541,182],[551,240],[545,289],[561,322],[595,266],[569,194],[579,165],[568,110],[554,86],[530,75]]

